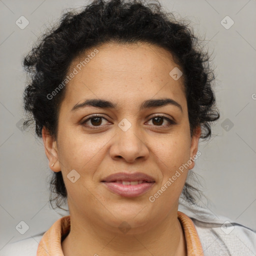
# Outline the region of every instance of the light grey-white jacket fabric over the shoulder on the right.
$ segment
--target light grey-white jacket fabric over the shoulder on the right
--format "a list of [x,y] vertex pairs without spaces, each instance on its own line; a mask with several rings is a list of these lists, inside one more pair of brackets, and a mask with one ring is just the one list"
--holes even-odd
[[225,216],[215,215],[207,208],[179,206],[193,221],[204,256],[255,256],[256,230]]

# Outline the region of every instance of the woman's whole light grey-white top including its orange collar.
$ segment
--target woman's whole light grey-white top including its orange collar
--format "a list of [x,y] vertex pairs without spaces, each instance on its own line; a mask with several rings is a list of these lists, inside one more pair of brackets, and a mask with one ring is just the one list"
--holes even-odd
[[[178,206],[178,219],[184,229],[190,253],[188,255],[256,255],[256,230],[224,216],[215,215],[207,207],[192,206],[181,201]],[[51,252],[51,256],[62,256],[60,237],[68,232],[69,221],[69,215],[61,217],[46,232],[5,245],[0,250],[0,256],[48,256],[38,245],[39,242]],[[225,224],[225,221],[229,222]]]

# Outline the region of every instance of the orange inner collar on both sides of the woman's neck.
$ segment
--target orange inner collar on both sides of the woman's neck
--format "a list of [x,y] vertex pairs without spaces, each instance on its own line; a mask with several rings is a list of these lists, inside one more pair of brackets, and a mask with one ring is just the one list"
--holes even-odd
[[[177,211],[177,217],[184,230],[187,256],[203,256],[203,250],[193,221],[183,212]],[[36,256],[64,256],[61,237],[70,229],[70,215],[59,218],[43,234],[37,247]]]

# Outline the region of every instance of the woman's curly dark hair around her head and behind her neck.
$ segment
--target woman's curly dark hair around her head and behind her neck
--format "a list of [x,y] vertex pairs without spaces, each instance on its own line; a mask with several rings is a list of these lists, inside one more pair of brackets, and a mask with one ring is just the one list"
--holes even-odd
[[[23,66],[31,78],[23,94],[24,109],[29,113],[23,125],[35,121],[39,137],[45,126],[56,138],[59,105],[65,88],[52,99],[47,95],[63,81],[71,61],[86,49],[106,42],[144,42],[169,51],[181,67],[190,134],[200,125],[200,138],[209,138],[210,122],[219,118],[219,112],[212,90],[214,73],[209,67],[209,55],[202,50],[199,41],[188,24],[164,11],[157,0],[148,3],[143,0],[94,0],[79,12],[69,10],[23,59]],[[67,197],[61,171],[53,173],[50,185],[51,192],[56,194],[50,202],[56,199],[57,207],[61,208],[60,202]],[[195,203],[194,191],[199,189],[185,182],[181,196]]]

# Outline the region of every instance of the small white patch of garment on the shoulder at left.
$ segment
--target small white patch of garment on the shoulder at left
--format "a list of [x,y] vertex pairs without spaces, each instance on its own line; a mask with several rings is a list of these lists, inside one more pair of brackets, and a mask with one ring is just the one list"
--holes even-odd
[[43,233],[30,238],[6,244],[0,250],[0,256],[35,256]]

